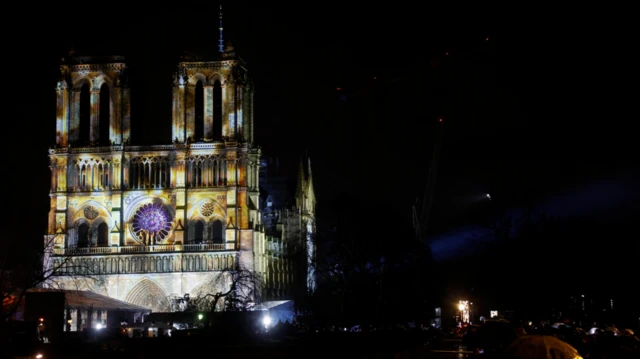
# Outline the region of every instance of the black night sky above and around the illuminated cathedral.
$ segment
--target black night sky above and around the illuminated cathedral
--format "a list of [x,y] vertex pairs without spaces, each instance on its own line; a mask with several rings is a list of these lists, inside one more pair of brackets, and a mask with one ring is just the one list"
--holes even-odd
[[[46,229],[54,85],[68,49],[127,56],[137,76],[133,141],[169,143],[171,72],[182,51],[215,49],[218,5],[15,13],[4,31],[7,237],[38,241]],[[292,162],[309,154],[327,218],[361,210],[353,223],[367,233],[410,233],[439,117],[446,130],[434,233],[470,220],[487,192],[519,206],[532,194],[559,201],[567,188],[636,178],[625,19],[603,9],[578,17],[545,8],[348,6],[225,5],[225,39],[257,86],[256,141]],[[362,89],[380,97],[358,100]],[[380,111],[341,110],[358,101]],[[622,197],[616,210],[637,208],[637,195]],[[607,202],[600,198],[591,206]]]

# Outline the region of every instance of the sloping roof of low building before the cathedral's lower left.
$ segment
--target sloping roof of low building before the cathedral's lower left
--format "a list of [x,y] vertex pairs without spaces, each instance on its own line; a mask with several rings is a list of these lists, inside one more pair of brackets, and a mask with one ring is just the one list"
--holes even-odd
[[107,297],[87,290],[62,290],[62,289],[32,289],[29,292],[63,292],[65,303],[71,309],[94,309],[120,312],[143,312],[150,313],[151,309],[131,304],[122,300]]

